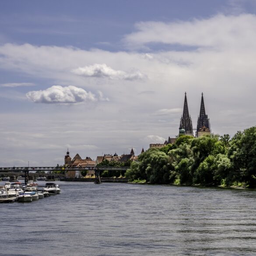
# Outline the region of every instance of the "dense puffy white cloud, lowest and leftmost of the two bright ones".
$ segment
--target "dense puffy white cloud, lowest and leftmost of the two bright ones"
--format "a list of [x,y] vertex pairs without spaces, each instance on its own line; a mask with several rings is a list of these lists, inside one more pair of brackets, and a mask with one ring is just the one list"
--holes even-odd
[[53,85],[43,91],[29,91],[26,95],[35,103],[78,103],[97,100],[90,91],[72,85],[66,87]]

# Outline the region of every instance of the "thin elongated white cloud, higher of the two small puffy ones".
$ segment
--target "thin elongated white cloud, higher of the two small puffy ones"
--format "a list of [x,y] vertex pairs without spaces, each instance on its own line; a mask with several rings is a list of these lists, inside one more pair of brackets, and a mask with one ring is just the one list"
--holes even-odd
[[84,77],[108,77],[109,79],[130,81],[145,78],[145,75],[142,74],[139,70],[127,73],[121,70],[114,70],[111,67],[108,67],[105,63],[78,67],[77,69],[71,70],[71,72]]

